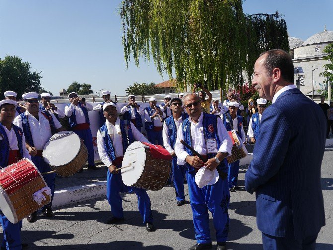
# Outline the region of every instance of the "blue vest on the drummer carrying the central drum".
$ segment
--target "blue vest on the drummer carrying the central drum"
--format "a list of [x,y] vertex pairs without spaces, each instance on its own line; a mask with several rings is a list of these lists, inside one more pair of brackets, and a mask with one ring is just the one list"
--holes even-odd
[[[123,120],[120,120],[120,130],[121,130],[121,136],[123,138],[123,150],[124,150],[124,153],[127,149],[127,147],[135,141],[134,139],[134,136],[133,136],[133,132],[132,132],[132,127],[130,125],[130,121],[127,120],[127,124],[128,124],[128,138],[127,138],[127,134],[126,134],[126,128],[125,128],[125,123]],[[105,145],[105,150],[106,150],[106,153],[107,155],[110,157],[110,159],[112,161],[114,161],[116,159],[116,153],[114,151],[114,147],[113,147],[113,144],[112,144],[112,140],[111,140],[111,137],[107,131],[107,126],[106,126],[106,123],[104,125],[102,125],[100,128],[99,128],[99,132],[102,134],[103,136],[103,132],[104,132],[104,145]]]

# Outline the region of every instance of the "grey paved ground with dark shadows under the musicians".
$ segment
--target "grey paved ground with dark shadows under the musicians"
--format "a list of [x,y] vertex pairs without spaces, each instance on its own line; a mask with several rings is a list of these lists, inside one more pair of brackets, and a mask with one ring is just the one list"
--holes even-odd
[[[333,249],[333,147],[327,148],[322,165],[322,187],[325,199],[326,226],[320,232],[317,249]],[[244,187],[244,175],[247,166],[241,167],[239,184]],[[105,180],[105,169],[83,171],[71,178],[57,178],[58,188],[67,184],[80,185],[86,176],[90,180]],[[65,185],[66,184],[66,185]],[[187,186],[185,187],[187,193]],[[189,203],[175,206],[174,189],[165,187],[160,191],[148,191],[154,215],[156,232],[149,233],[142,225],[142,218],[137,210],[135,194],[123,196],[125,222],[122,225],[106,225],[111,216],[105,199],[92,200],[55,211],[56,217],[45,219],[40,216],[33,224],[23,222],[22,241],[29,249],[69,250],[183,250],[192,246],[194,230],[192,212]],[[255,224],[255,198],[246,191],[231,193],[230,230],[228,249],[261,250],[261,234]],[[188,200],[188,195],[186,197]],[[211,221],[211,232],[214,227]]]

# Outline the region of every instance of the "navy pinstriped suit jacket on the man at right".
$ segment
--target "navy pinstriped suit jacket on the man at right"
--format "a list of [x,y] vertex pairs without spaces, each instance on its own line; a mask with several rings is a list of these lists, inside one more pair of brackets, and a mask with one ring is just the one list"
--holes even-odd
[[283,92],[262,114],[245,188],[256,195],[258,229],[304,239],[325,225],[321,165],[326,123],[300,90]]

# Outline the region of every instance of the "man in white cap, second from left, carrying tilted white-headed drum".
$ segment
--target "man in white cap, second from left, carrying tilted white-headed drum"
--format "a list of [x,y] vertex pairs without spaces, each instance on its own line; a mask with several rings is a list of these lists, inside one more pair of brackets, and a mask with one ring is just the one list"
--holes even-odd
[[[14,119],[13,124],[19,126],[25,136],[26,148],[31,155],[31,161],[36,165],[39,172],[51,171],[50,166],[43,158],[43,149],[51,136],[65,129],[61,126],[54,114],[48,111],[39,110],[38,93],[29,92],[22,95],[25,100],[27,110]],[[46,174],[43,176],[46,184],[51,189],[51,202],[42,207],[42,213],[46,217],[53,217],[52,200],[54,196],[56,174]],[[37,219],[37,212],[32,213],[27,217],[27,221],[32,223]]]

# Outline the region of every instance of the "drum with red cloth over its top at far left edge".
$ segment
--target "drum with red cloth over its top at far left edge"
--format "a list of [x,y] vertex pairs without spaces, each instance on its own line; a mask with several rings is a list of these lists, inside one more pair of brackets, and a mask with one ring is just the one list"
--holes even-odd
[[[28,217],[51,201],[51,194],[41,192],[48,188],[37,167],[23,158],[0,170],[0,209],[11,223]],[[33,200],[34,193],[44,195],[40,204]],[[44,199],[45,198],[45,199]]]

